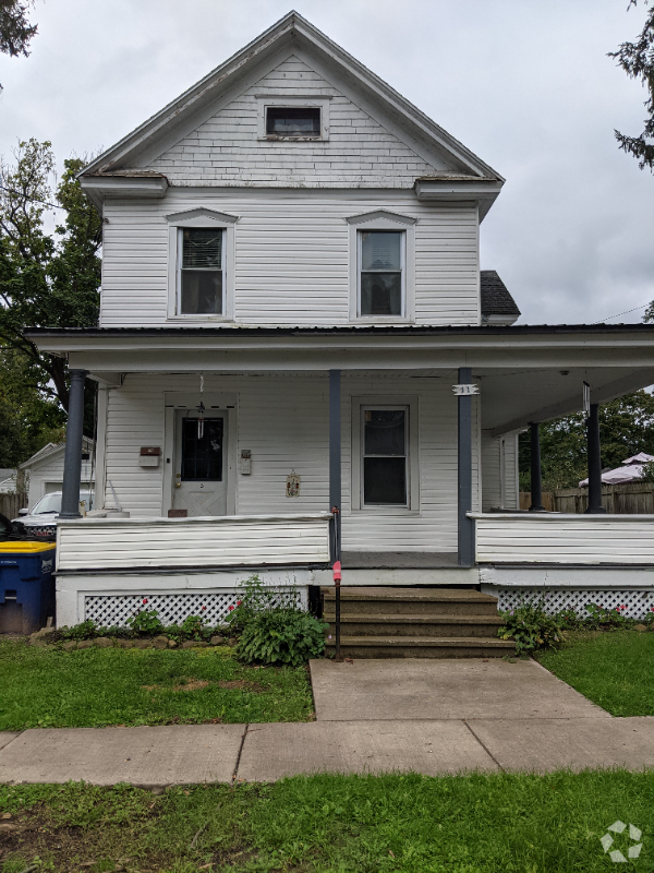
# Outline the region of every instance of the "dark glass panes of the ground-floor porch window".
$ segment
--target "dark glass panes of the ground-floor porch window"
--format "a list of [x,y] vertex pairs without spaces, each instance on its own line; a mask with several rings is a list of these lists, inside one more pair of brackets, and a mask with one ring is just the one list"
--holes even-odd
[[363,503],[407,505],[407,409],[363,410]]

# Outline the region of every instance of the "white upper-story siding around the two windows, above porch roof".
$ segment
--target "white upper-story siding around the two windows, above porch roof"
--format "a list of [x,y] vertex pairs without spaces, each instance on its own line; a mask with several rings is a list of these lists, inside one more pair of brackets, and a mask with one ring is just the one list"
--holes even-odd
[[170,189],[161,201],[106,203],[102,327],[171,325],[166,215],[199,206],[239,217],[233,265],[238,323],[348,324],[351,253],[344,219],[377,210],[417,219],[415,323],[479,323],[473,207],[420,203],[412,191],[181,188]]

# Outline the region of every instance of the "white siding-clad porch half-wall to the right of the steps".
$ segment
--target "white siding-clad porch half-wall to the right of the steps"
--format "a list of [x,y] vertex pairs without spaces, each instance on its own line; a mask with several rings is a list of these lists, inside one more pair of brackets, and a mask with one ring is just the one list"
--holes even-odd
[[473,515],[484,563],[651,564],[654,515]]

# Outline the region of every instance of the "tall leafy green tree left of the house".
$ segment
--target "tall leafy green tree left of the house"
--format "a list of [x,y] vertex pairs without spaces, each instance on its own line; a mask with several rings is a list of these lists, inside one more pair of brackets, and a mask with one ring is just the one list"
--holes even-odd
[[[14,156],[14,167],[0,166],[0,344],[21,351],[39,372],[44,396],[68,410],[65,362],[40,352],[23,330],[97,324],[101,218],[75,178],[83,158],[64,162],[52,192],[49,142],[20,143]],[[65,217],[48,234],[44,216],[55,199]]]

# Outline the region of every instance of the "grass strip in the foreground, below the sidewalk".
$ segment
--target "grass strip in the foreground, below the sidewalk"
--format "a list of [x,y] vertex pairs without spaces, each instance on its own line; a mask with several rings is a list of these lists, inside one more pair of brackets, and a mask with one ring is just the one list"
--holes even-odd
[[[614,869],[600,839],[642,830],[654,866],[654,774],[294,777],[174,788],[0,786],[2,873],[303,871],[572,873]],[[616,846],[627,853],[626,835]],[[614,846],[614,848],[616,848]],[[35,861],[35,858],[38,860]]]

